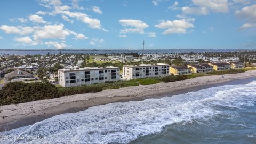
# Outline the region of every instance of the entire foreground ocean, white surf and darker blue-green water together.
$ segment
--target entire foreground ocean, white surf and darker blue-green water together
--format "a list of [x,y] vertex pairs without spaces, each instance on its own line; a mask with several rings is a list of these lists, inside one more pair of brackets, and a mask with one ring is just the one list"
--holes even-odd
[[255,143],[256,81],[90,107],[0,135],[0,143]]

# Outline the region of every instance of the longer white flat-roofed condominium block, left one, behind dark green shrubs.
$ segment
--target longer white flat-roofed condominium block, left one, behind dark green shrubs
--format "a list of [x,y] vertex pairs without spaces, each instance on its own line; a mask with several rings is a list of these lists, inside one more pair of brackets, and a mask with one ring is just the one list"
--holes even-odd
[[59,85],[74,87],[106,81],[118,81],[118,67],[65,68],[58,70]]

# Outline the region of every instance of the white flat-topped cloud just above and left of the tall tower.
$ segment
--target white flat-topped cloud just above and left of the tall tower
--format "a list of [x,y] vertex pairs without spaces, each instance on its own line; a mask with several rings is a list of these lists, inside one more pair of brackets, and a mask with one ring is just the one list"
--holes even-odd
[[[122,34],[126,33],[140,33],[144,34],[144,29],[149,27],[146,23],[141,20],[123,19],[119,20],[119,23],[125,27],[120,31]],[[131,27],[131,28],[127,28]]]

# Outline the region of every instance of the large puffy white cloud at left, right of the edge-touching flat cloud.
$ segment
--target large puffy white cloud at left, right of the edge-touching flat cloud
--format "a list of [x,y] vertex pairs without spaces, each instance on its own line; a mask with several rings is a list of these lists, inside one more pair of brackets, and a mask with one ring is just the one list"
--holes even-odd
[[35,30],[33,35],[35,41],[40,41],[41,39],[65,39],[66,36],[70,35],[70,31],[68,29],[63,28],[64,25],[45,25],[44,27],[39,27]]

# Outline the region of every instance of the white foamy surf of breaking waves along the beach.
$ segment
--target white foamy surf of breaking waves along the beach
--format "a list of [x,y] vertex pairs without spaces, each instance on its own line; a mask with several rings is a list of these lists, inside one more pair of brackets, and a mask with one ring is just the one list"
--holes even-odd
[[127,143],[161,132],[166,125],[207,119],[220,114],[218,106],[252,106],[256,81],[225,85],[197,92],[90,107],[78,113],[57,115],[0,135],[43,136],[45,139],[5,140],[0,143]]

